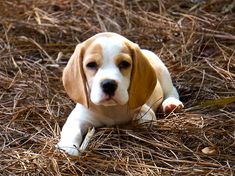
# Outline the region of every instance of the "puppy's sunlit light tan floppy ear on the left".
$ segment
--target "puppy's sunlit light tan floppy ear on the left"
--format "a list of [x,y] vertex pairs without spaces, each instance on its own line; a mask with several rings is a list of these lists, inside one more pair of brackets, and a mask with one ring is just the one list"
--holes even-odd
[[83,71],[84,49],[78,44],[63,71],[63,85],[69,97],[76,103],[88,107],[86,79]]

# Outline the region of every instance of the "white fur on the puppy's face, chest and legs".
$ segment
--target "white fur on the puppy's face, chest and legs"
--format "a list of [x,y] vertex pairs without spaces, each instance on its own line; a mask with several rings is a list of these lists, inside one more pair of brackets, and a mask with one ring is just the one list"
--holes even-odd
[[[102,47],[103,63],[94,77],[87,80],[91,89],[89,109],[81,104],[76,105],[63,126],[61,139],[57,144],[59,149],[75,156],[79,155],[79,147],[89,127],[123,124],[139,118],[141,122],[156,119],[153,110],[146,104],[132,110],[127,105],[131,75],[124,77],[114,62],[115,56],[120,53],[123,47],[122,38],[113,40],[99,37],[94,43],[98,43]],[[142,50],[142,52],[151,58],[151,62],[154,62],[155,69],[158,71],[158,81],[164,93],[163,110],[172,106],[182,108],[183,104],[179,100],[179,95],[165,65],[154,53],[148,50]],[[105,101],[107,95],[100,87],[100,83],[104,79],[113,79],[118,83],[115,95],[108,101]]]

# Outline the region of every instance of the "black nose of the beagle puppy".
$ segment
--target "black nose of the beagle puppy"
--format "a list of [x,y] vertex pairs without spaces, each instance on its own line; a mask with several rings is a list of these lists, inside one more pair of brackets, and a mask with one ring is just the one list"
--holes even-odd
[[101,88],[104,93],[108,94],[109,96],[113,96],[115,90],[117,89],[117,82],[112,79],[105,79],[101,82]]

